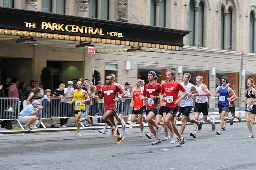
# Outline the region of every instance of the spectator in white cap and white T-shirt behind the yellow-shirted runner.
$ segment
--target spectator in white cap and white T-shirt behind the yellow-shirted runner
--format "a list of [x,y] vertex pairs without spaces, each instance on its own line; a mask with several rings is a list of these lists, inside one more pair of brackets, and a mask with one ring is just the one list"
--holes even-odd
[[[72,105],[70,104],[73,98],[73,81],[68,81],[68,87],[64,88],[64,98],[62,98],[60,106],[61,106],[61,117],[71,117],[72,116]],[[60,119],[60,127],[66,127],[66,123],[68,123],[68,118]],[[63,126],[64,125],[64,126]]]

